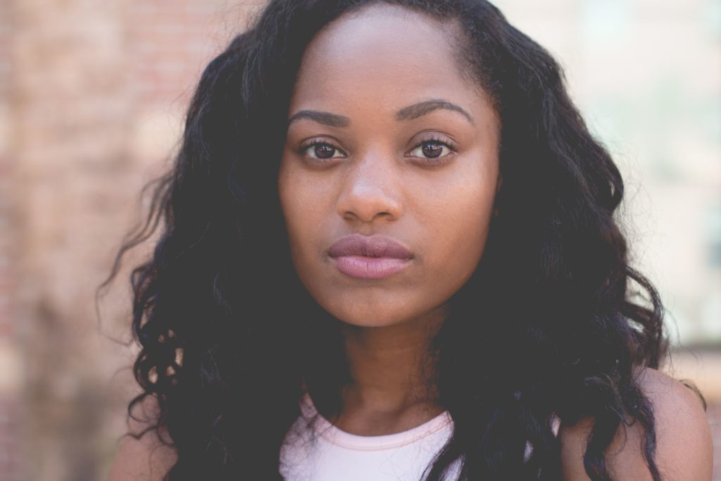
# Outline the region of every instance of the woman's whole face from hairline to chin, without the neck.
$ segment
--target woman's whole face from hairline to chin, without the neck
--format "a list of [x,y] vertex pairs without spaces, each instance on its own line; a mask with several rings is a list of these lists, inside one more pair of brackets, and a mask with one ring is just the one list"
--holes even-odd
[[[350,325],[443,312],[481,258],[500,123],[457,69],[451,27],[374,5],[327,25],[304,53],[278,192],[298,277]],[[332,249],[350,234],[361,236],[350,250]]]

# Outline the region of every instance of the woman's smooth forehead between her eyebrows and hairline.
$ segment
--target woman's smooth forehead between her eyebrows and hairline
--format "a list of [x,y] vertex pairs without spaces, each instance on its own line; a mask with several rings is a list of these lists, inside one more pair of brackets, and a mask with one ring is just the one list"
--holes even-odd
[[456,61],[456,25],[401,6],[374,4],[344,14],[306,48],[290,110],[395,107],[443,98],[479,102]]

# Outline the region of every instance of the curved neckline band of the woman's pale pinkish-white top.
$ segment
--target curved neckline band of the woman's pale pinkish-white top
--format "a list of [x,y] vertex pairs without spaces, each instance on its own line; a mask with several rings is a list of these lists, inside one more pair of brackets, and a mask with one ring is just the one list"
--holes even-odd
[[336,446],[359,451],[379,451],[412,444],[421,438],[441,431],[443,428],[450,427],[453,423],[451,414],[446,410],[435,416],[435,418],[400,433],[361,436],[342,431],[342,429],[330,423],[318,412],[307,392],[301,398],[301,411],[306,418],[315,418],[313,429],[318,436]]

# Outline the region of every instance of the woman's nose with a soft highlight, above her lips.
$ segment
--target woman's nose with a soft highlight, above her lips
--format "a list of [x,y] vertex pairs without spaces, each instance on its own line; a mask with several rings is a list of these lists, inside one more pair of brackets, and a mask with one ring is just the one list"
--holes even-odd
[[371,222],[401,216],[400,172],[387,154],[368,153],[348,169],[338,198],[338,214],[349,221]]

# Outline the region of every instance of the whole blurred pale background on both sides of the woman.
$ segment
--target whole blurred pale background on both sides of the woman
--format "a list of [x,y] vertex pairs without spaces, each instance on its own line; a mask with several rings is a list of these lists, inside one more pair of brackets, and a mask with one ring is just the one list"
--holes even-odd
[[[622,169],[634,264],[660,289],[665,370],[709,401],[721,480],[721,0],[497,0],[565,67]],[[262,1],[0,0],[0,480],[104,480],[125,406],[141,187],[203,66]]]

